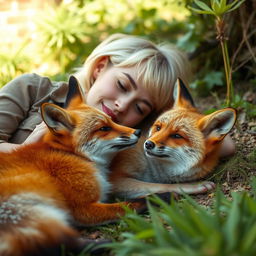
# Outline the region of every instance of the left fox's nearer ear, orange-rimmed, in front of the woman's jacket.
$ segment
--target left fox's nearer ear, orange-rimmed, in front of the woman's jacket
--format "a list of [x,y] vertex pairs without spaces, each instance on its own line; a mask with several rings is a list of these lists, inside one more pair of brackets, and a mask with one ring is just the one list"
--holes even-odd
[[74,129],[74,120],[68,112],[52,103],[44,103],[41,106],[41,114],[49,130],[54,134],[63,131],[71,132]]

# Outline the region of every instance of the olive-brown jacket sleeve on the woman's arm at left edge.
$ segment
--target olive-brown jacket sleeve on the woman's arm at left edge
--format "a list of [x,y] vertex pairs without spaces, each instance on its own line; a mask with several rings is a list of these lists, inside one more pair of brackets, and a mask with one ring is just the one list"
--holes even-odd
[[39,76],[21,75],[0,90],[0,143],[7,142],[36,100]]

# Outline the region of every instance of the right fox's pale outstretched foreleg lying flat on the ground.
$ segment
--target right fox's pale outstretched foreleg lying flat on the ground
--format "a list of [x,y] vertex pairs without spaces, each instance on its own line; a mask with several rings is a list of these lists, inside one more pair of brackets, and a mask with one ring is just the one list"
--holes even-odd
[[113,193],[122,198],[137,198],[155,193],[175,192],[178,194],[200,194],[215,188],[211,181],[198,183],[161,184],[136,180],[133,178],[115,179]]

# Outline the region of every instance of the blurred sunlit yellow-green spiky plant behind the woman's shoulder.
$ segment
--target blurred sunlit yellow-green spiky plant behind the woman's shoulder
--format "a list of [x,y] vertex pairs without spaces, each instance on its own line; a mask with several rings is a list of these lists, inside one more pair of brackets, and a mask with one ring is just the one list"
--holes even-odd
[[66,73],[79,48],[83,48],[84,15],[85,9],[79,8],[78,3],[62,2],[59,6],[48,6],[43,15],[36,18],[38,44],[44,49],[44,59],[56,61],[61,73]]

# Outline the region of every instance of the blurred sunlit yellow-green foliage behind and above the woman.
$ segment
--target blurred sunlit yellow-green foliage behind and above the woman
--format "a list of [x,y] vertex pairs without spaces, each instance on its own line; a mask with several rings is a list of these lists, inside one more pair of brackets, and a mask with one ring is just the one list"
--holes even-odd
[[[184,18],[189,12],[184,4],[177,5],[174,0],[73,0],[62,1],[58,5],[52,2],[34,18],[35,32],[29,35],[31,39],[27,41],[29,54],[18,50],[19,55],[10,55],[9,46],[8,51],[0,49],[4,73],[0,77],[0,85],[24,72],[37,72],[57,80],[66,79],[75,68],[82,66],[106,36],[116,32],[175,42],[187,29],[186,23],[177,18],[176,13]],[[17,38],[13,38],[13,43],[16,50],[23,47],[20,47]],[[32,57],[31,65],[24,56]],[[12,63],[18,72],[5,68],[8,63]]]

